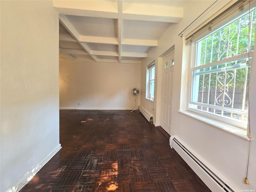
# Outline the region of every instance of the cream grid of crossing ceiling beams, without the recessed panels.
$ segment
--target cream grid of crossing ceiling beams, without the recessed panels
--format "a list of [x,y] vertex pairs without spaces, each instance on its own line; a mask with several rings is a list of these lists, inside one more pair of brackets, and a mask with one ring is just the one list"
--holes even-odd
[[[66,58],[70,58],[73,60],[76,60],[76,58],[74,58],[70,54],[74,54],[74,56],[75,54],[80,54],[78,55],[78,57],[80,57],[79,59],[81,60],[83,59],[82,58],[83,55],[88,54],[91,58],[89,58],[89,56],[84,56],[84,57],[88,57],[86,58],[86,60],[91,59],[91,61],[96,61],[96,62],[120,62],[120,63],[141,64],[142,62],[140,58],[146,58],[148,56],[147,53],[136,52],[137,48],[136,50],[135,49],[131,50],[133,52],[122,52],[122,50],[124,50],[122,49],[122,46],[124,46],[124,48],[125,48],[125,45],[144,46],[142,47],[142,49],[146,50],[146,47],[158,46],[158,40],[123,38],[122,28],[124,28],[124,25],[125,25],[125,22],[123,21],[139,20],[139,21],[150,21],[150,22],[178,23],[183,17],[183,8],[175,7],[173,6],[174,4],[168,3],[168,2],[164,2],[163,4],[161,4],[157,0],[155,1],[153,0],[151,2],[126,1],[126,0],[112,0],[112,1],[54,0],[53,5],[54,5],[54,8],[60,14],[59,15],[60,23],[71,34],[71,36],[69,36],[68,34],[60,34],[59,40],[66,41],[66,42],[77,42],[84,49],[84,50],[81,50],[79,48],[78,49],[60,48],[60,53],[63,56],[66,56]],[[75,25],[73,26],[72,23],[68,20],[68,16],[65,16],[64,14],[73,15],[73,16],[112,18],[114,21],[115,34],[113,35],[113,37],[80,35],[78,33],[79,30],[76,30],[76,28],[74,28]],[[130,36],[130,37],[133,37],[133,36]],[[116,45],[118,45],[118,50],[116,49],[113,51],[111,50],[108,51],[109,49],[106,51],[91,50],[90,43],[111,44],[115,47]],[[99,56],[112,56],[112,57],[109,57],[108,59],[103,59],[104,57],[99,57]],[[98,57],[102,59],[98,59]],[[115,57],[117,59],[115,59]],[[122,58],[126,60],[123,60]]]

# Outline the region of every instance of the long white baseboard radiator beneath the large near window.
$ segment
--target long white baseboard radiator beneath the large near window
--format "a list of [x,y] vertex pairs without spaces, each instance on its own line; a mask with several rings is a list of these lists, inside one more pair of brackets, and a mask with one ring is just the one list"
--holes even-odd
[[171,136],[170,146],[182,157],[182,159],[192,168],[200,179],[208,186],[212,192],[234,192],[223,180],[221,180],[212,170],[203,164],[194,154],[192,154],[176,138]]

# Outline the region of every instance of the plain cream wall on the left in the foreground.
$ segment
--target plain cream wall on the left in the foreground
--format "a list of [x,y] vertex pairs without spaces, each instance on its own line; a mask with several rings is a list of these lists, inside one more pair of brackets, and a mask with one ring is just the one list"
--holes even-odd
[[1,3],[1,192],[18,190],[60,148],[58,13]]

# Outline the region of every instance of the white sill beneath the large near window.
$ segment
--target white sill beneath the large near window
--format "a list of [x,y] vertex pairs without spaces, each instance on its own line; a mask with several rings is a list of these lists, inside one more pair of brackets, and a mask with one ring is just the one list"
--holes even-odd
[[214,120],[214,119],[211,119],[211,118],[208,118],[206,116],[202,116],[198,113],[195,113],[195,112],[190,112],[190,111],[178,111],[182,114],[185,114],[187,116],[190,116],[192,118],[195,118],[196,120],[199,120],[201,122],[204,122],[204,123],[207,123],[211,126],[214,126],[216,128],[219,128],[221,130],[224,130],[226,132],[229,132],[231,134],[234,134],[240,138],[243,138],[245,140],[250,140],[248,138],[248,136],[246,135],[247,134],[247,131],[246,130],[243,130],[241,128],[238,128],[238,127],[235,127],[235,126],[232,126],[232,125],[229,125],[229,124],[226,124],[226,123],[223,123],[223,122],[219,122],[217,120]]

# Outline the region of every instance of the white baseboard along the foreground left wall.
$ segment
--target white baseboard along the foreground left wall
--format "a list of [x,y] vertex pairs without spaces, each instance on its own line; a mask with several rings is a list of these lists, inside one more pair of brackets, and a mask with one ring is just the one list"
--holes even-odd
[[60,144],[46,156],[41,162],[39,162],[36,166],[32,167],[32,169],[13,187],[11,187],[7,192],[18,192],[24,187],[30,179],[61,149]]

